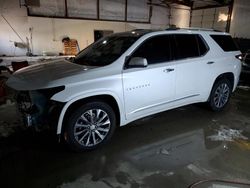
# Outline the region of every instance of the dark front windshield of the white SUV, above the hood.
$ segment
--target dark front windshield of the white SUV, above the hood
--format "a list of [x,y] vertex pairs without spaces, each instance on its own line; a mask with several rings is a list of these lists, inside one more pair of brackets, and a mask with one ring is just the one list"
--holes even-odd
[[81,51],[74,63],[86,66],[105,66],[118,59],[137,39],[138,35],[104,37]]

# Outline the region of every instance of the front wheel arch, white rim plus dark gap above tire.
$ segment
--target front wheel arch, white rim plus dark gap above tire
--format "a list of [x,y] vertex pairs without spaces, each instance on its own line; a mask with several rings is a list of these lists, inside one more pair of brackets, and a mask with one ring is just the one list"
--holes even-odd
[[63,133],[64,129],[64,123],[67,120],[66,118],[69,116],[69,114],[76,108],[91,102],[91,101],[102,101],[106,102],[108,105],[111,106],[111,108],[115,112],[117,125],[119,126],[121,124],[121,104],[117,97],[111,95],[111,94],[96,94],[92,96],[83,96],[83,97],[77,97],[75,99],[72,99],[68,101],[59,116],[58,124],[57,124],[57,134]]

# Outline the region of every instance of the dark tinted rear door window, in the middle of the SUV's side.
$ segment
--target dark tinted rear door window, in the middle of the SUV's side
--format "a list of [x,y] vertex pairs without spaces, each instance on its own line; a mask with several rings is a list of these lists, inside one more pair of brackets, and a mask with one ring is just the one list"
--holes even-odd
[[175,59],[186,59],[200,56],[196,35],[175,34]]

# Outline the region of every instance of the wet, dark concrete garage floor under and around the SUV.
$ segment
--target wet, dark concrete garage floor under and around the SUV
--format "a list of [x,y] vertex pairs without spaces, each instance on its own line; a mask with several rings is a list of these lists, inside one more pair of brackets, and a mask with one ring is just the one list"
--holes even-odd
[[84,153],[69,152],[53,132],[22,128],[14,109],[0,106],[0,187],[184,188],[206,179],[250,180],[249,87],[238,88],[223,112],[202,105],[166,111],[117,129],[107,145]]

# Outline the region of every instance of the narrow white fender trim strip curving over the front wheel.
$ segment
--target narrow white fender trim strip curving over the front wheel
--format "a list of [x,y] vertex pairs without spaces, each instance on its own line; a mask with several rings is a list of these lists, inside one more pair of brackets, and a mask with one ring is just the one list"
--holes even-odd
[[65,116],[65,113],[67,112],[67,109],[73,104],[73,103],[75,103],[75,102],[77,102],[77,101],[79,101],[79,100],[82,100],[82,99],[85,99],[85,98],[88,98],[88,97],[95,97],[95,96],[100,96],[100,95],[109,95],[109,96],[112,96],[115,100],[116,100],[116,102],[117,102],[117,104],[118,104],[118,107],[119,107],[119,110],[120,110],[120,124],[122,125],[123,124],[123,122],[125,121],[125,117],[122,115],[122,114],[124,114],[123,112],[124,112],[124,105],[123,105],[123,103],[121,102],[121,100],[120,100],[120,98],[116,95],[116,94],[114,94],[114,93],[112,93],[112,92],[110,92],[110,91],[105,91],[105,92],[95,92],[95,93],[85,93],[84,95],[78,95],[77,97],[74,97],[73,99],[71,99],[70,101],[68,101],[65,105],[64,105],[64,107],[63,107],[63,109],[62,109],[62,111],[61,111],[61,113],[60,113],[60,116],[59,116],[59,119],[58,119],[58,124],[57,124],[57,134],[61,134],[62,133],[62,126],[63,126],[63,120],[64,120],[64,116]]

